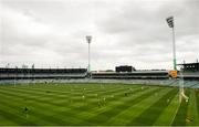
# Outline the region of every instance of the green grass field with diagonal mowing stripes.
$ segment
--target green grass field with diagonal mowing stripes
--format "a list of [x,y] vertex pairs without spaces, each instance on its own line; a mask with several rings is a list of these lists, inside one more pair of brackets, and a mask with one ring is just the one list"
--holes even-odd
[[[0,125],[199,126],[199,89],[124,84],[0,86]],[[25,112],[25,107],[28,110]]]

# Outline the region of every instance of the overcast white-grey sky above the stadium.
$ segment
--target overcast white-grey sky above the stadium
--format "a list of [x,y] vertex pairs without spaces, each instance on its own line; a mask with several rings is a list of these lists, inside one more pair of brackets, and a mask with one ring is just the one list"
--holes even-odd
[[0,0],[0,66],[172,68],[199,59],[199,0]]

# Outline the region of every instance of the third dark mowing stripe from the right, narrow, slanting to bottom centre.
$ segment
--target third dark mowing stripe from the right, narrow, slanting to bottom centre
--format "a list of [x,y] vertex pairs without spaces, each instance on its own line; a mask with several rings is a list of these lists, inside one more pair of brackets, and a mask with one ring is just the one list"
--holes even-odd
[[[96,116],[88,118],[86,120],[86,124],[91,124],[91,125],[103,125],[104,123],[106,123],[111,117],[118,115],[121,112],[123,112],[126,108],[129,108],[130,106],[135,105],[136,103],[139,103],[142,99],[147,98],[148,96],[150,96],[153,93],[160,91],[161,88],[156,88],[153,91],[149,91],[147,93],[142,94],[140,96],[134,98],[134,99],[127,99],[125,102],[123,102],[119,105],[113,105],[112,108],[97,114]],[[138,89],[138,92],[142,92],[142,89]],[[135,93],[136,94],[136,93]]]

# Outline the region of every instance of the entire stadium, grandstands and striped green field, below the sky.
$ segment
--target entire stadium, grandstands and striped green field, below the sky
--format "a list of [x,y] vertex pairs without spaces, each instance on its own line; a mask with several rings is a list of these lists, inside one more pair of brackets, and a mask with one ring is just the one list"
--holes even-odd
[[[186,66],[177,77],[126,66],[91,74],[86,68],[0,68],[0,124],[196,126],[199,77]],[[188,98],[179,99],[182,87]]]

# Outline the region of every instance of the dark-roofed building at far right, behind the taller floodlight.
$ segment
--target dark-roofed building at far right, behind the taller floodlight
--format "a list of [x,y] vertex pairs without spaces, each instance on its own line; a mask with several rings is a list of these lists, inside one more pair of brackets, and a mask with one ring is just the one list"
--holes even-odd
[[199,62],[178,64],[184,72],[199,72]]

